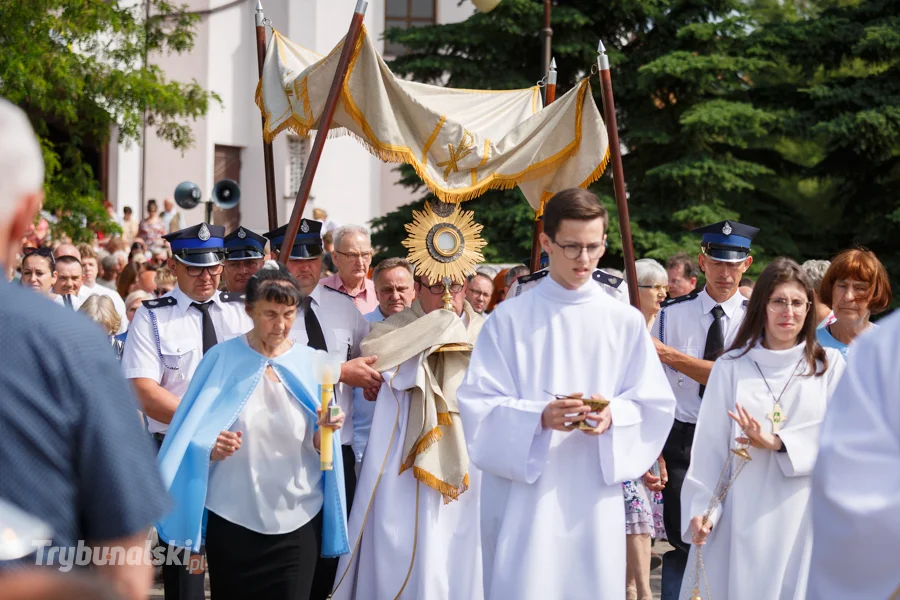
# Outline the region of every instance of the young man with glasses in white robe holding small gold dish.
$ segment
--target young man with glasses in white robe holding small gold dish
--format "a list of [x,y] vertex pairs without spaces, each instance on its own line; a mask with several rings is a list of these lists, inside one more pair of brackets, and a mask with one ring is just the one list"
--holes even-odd
[[548,275],[494,310],[457,392],[487,600],[625,597],[622,482],[656,461],[675,399],[642,315],[594,281],[607,219],[587,190],[547,202]]

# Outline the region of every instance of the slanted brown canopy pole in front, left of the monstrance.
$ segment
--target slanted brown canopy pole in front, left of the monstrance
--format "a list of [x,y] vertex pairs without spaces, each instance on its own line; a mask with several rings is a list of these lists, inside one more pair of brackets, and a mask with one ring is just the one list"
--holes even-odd
[[291,255],[291,247],[294,245],[294,238],[297,237],[297,231],[300,229],[300,218],[303,216],[303,210],[306,208],[306,201],[309,200],[312,181],[316,176],[316,169],[319,167],[319,159],[322,158],[322,149],[325,147],[325,140],[328,139],[328,128],[331,127],[331,121],[334,119],[334,111],[337,109],[341,88],[344,85],[344,80],[347,78],[347,70],[350,68],[350,55],[353,54],[353,48],[356,47],[356,42],[359,40],[363,17],[366,15],[368,4],[367,0],[358,0],[356,3],[353,20],[350,21],[350,29],[347,31],[347,37],[344,39],[344,47],[341,49],[341,58],[338,60],[338,66],[334,72],[331,89],[328,91],[328,98],[325,100],[325,108],[322,111],[322,116],[319,118],[316,141],[313,142],[309,161],[306,163],[306,170],[303,172],[303,180],[300,182],[300,189],[297,191],[297,199],[294,201],[294,210],[291,211],[291,220],[284,234],[284,243],[281,245],[281,252],[278,254],[278,262],[281,264],[287,264],[288,257]]

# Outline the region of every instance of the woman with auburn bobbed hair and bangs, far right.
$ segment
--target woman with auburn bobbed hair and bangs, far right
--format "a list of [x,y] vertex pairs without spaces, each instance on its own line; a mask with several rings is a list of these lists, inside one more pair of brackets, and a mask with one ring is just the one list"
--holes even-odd
[[817,330],[816,336],[822,346],[840,350],[844,358],[856,337],[872,327],[869,317],[891,303],[887,271],[875,253],[865,248],[851,248],[835,256],[820,293],[835,321]]

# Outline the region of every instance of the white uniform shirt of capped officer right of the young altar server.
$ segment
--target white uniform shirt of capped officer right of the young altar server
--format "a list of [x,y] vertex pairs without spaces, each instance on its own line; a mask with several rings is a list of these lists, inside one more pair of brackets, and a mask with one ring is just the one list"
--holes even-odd
[[[725,349],[737,335],[747,312],[747,299],[740,293],[721,304],[725,311]],[[676,298],[659,311],[653,322],[652,335],[665,345],[694,358],[703,358],[706,334],[715,320],[712,309],[716,301],[703,288],[700,292]],[[700,412],[700,384],[672,367],[664,369],[672,391],[675,392],[675,419],[682,423],[696,423]]]

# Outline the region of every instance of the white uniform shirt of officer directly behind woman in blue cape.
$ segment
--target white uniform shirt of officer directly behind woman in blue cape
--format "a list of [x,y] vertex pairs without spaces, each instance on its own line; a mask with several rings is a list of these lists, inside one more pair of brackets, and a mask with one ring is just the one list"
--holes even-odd
[[[312,311],[322,326],[328,352],[340,355],[344,361],[358,358],[359,345],[369,335],[369,323],[356,308],[353,299],[321,285],[317,285],[309,296],[312,298]],[[305,311],[301,309],[291,329],[291,339],[304,346],[309,342],[305,317]],[[346,415],[341,428],[341,442],[350,446],[353,443],[353,388],[340,383],[334,388],[334,397]]]

